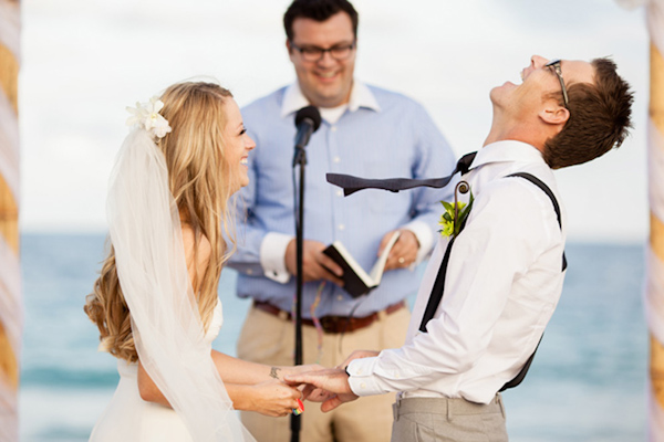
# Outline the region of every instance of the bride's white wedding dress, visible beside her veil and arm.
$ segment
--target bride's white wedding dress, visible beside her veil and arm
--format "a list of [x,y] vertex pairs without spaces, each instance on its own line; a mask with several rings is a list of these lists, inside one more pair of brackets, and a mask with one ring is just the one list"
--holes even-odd
[[[212,348],[219,335],[224,315],[217,301],[205,341]],[[158,403],[146,402],[138,392],[138,364],[117,360],[120,382],[113,399],[100,418],[90,441],[94,442],[189,442],[191,436],[177,413]]]

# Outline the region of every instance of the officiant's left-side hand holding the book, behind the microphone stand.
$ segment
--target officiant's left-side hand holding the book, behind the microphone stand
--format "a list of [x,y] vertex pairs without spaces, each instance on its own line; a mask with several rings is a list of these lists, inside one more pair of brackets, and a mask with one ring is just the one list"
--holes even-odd
[[[302,243],[302,280],[308,283],[311,281],[325,280],[343,286],[343,271],[332,259],[323,253],[326,245],[313,240],[304,240]],[[298,274],[297,244],[291,240],[286,248],[286,269],[291,275]]]

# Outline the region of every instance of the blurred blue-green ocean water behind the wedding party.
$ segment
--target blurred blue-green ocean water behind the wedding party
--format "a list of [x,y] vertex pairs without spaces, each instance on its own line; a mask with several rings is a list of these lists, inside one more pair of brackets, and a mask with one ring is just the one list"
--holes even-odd
[[[82,309],[103,251],[103,235],[22,236],[24,442],[87,440],[113,394],[115,359],[96,351],[96,327]],[[510,440],[643,441],[643,249],[569,244],[567,255],[562,299],[528,378],[504,393]],[[219,296],[226,315],[215,348],[229,354],[249,306],[234,296],[234,286],[235,273],[224,271]]]

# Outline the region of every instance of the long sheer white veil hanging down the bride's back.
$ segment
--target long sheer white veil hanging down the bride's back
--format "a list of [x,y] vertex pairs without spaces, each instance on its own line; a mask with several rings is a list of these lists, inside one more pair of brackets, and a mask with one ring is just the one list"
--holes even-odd
[[106,210],[143,367],[194,441],[253,441],[204,341],[166,160],[142,127],[132,130],[118,152]]

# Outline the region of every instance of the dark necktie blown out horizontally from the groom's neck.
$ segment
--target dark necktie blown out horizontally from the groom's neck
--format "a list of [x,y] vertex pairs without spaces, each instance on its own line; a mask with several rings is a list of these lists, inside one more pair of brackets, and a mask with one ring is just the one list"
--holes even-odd
[[477,152],[470,152],[464,155],[458,161],[454,171],[448,177],[443,178],[428,178],[428,179],[414,179],[414,178],[385,178],[385,179],[367,179],[353,177],[351,175],[342,173],[328,173],[325,177],[328,182],[343,188],[343,194],[347,197],[351,193],[362,189],[383,189],[390,190],[391,192],[398,192],[400,190],[413,189],[415,187],[433,187],[442,188],[449,183],[452,177],[456,173],[466,173]]

